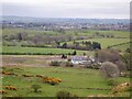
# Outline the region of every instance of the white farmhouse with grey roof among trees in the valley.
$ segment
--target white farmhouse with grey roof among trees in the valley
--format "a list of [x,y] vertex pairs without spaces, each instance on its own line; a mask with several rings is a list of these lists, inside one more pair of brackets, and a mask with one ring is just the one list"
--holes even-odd
[[72,57],[72,63],[74,65],[77,65],[77,64],[85,64],[88,62],[88,58],[87,56],[73,56]]

